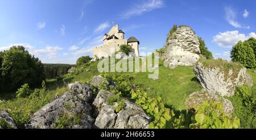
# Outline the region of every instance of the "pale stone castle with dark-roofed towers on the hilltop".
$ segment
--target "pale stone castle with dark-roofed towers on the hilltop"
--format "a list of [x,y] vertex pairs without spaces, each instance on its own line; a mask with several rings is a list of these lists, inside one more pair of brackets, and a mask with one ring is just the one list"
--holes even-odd
[[108,34],[105,33],[103,43],[102,46],[97,46],[93,49],[94,57],[108,57],[118,52],[123,44],[130,45],[132,48],[131,52],[134,53],[134,56],[139,57],[139,41],[135,37],[125,39],[125,32],[118,29],[118,24],[113,26]]

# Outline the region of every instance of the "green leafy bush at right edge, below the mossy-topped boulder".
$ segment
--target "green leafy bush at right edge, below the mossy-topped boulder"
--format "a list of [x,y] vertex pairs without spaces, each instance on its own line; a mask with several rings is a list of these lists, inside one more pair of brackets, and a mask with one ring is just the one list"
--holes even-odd
[[256,128],[256,93],[250,86],[237,87],[235,95],[230,97],[234,106],[234,115],[241,119],[241,128]]

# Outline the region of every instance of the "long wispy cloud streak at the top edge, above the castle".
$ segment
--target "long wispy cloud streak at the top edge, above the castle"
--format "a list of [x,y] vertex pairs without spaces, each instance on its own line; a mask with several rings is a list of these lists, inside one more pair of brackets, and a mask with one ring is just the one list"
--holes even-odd
[[142,15],[146,12],[150,12],[154,9],[160,9],[164,6],[162,0],[148,0],[144,1],[140,5],[133,6],[132,9],[127,10],[125,13],[121,14],[121,18],[130,18],[131,16]]

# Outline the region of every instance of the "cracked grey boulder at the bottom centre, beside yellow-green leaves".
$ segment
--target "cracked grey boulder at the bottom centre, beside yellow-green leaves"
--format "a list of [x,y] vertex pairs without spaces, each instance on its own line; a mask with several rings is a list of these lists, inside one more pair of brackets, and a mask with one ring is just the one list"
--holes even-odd
[[[144,129],[148,128],[151,118],[144,113],[143,109],[128,100],[125,101],[125,108],[115,112],[114,105],[106,103],[109,97],[114,96],[111,92],[101,90],[93,105],[97,108],[98,117],[94,127],[101,129]],[[117,104],[115,104],[117,105]]]

